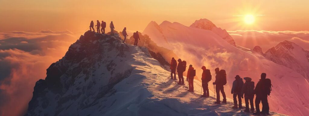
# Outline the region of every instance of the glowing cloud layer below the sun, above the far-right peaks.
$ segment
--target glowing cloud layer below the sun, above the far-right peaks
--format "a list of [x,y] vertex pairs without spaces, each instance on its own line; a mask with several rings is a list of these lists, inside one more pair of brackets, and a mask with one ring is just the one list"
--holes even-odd
[[263,52],[282,41],[292,41],[309,50],[309,31],[228,31],[237,45],[253,49],[259,45]]

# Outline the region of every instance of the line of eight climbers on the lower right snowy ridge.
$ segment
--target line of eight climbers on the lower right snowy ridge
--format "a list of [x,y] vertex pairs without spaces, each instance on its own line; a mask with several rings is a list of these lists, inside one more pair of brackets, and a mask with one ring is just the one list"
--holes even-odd
[[[183,72],[186,70],[186,61],[182,61],[178,59],[178,66],[175,58],[171,59],[171,79],[176,79],[176,69],[178,72],[179,82],[177,84],[184,85],[184,77]],[[209,89],[208,83],[212,79],[211,73],[209,69],[206,69],[205,66],[201,68],[203,70],[201,80],[202,80],[202,88],[203,88],[203,95],[201,97],[209,97]],[[226,71],[220,70],[219,68],[215,69],[215,81],[213,85],[216,85],[215,91],[217,94],[215,104],[220,104],[220,91],[222,93],[223,101],[222,103],[226,103],[226,95],[224,92],[224,85],[226,85]],[[174,75],[174,77],[173,77]],[[194,76],[196,75],[196,71],[194,70],[192,65],[189,65],[188,72],[187,72],[187,81],[188,81],[188,88],[190,92],[194,92],[193,87],[193,80]],[[245,83],[243,83],[243,79]],[[242,98],[245,99],[245,112],[250,112],[249,110],[249,101],[251,106],[251,112],[253,115],[268,115],[269,114],[269,105],[267,101],[267,97],[270,95],[271,91],[271,81],[270,79],[266,79],[266,73],[261,74],[260,81],[256,84],[256,88],[254,88],[254,82],[251,81],[250,77],[241,78],[239,75],[235,76],[235,80],[232,85],[231,94],[233,94],[234,106],[232,108],[242,109]],[[244,95],[244,97],[243,97]],[[253,98],[256,95],[255,105],[256,105],[256,112],[254,113],[254,105],[253,105]],[[238,99],[238,102],[237,102]],[[262,102],[262,111],[260,111],[260,102]]]

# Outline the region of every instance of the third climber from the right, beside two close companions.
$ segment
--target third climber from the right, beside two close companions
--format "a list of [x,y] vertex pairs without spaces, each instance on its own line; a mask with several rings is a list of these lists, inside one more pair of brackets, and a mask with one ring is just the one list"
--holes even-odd
[[232,91],[231,93],[233,94],[233,100],[234,100],[234,106],[232,108],[237,108],[237,98],[238,97],[238,102],[239,102],[239,109],[242,108],[241,104],[241,89],[243,88],[243,79],[240,78],[239,75],[236,75],[235,80],[233,82],[232,86]]

